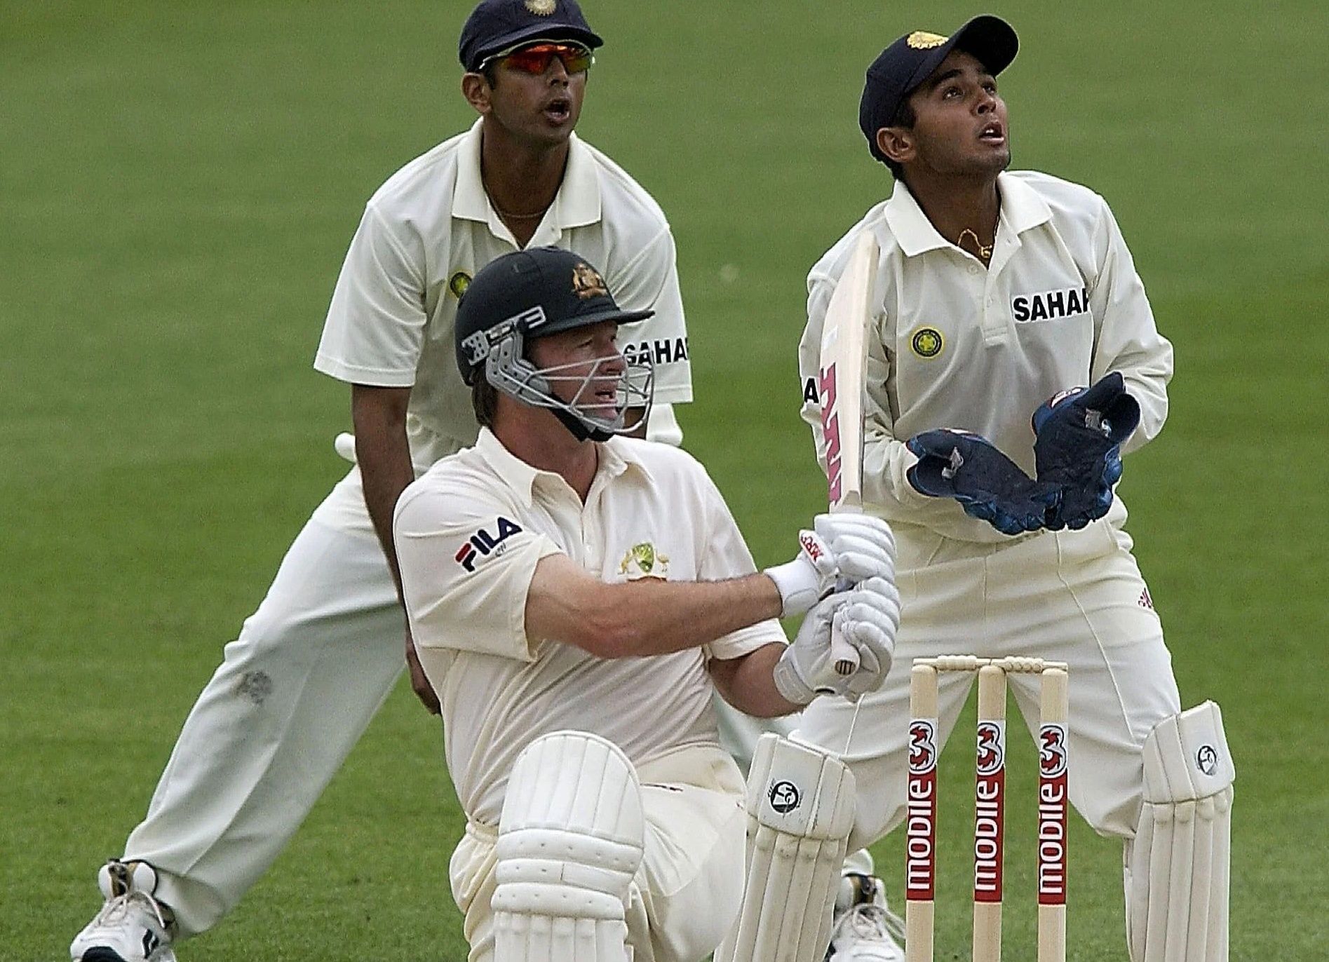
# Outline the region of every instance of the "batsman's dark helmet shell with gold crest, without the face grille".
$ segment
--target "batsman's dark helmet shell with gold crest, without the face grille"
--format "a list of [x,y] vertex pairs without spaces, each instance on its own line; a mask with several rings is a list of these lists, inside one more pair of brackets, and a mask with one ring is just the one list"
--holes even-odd
[[603,320],[631,324],[654,314],[622,310],[605,278],[579,254],[560,247],[504,254],[480,268],[457,304],[457,368],[473,384],[509,322],[522,337],[544,337]]

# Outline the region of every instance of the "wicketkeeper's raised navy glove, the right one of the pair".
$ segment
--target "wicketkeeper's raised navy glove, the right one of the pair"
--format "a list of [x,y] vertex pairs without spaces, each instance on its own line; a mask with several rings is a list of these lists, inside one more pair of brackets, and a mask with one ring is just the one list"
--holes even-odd
[[1139,423],[1140,405],[1115,371],[1091,388],[1063,391],[1034,412],[1038,480],[1061,490],[1049,528],[1083,528],[1107,514],[1112,485],[1122,477],[1122,442]]

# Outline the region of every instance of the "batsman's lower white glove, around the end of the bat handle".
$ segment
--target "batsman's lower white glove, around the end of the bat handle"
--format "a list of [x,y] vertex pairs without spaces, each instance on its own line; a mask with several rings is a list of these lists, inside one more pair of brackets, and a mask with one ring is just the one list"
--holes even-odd
[[[831,626],[859,652],[851,675],[835,670]],[[819,602],[803,619],[793,643],[775,663],[775,687],[789,702],[808,704],[817,695],[859,695],[881,687],[890,670],[900,627],[900,593],[886,578],[869,578]]]

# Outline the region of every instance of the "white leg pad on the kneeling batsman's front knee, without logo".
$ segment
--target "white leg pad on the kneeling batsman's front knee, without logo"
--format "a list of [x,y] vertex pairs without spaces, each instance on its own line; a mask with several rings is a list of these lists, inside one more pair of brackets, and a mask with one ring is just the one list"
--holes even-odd
[[617,745],[574,731],[526,745],[498,818],[494,962],[630,962],[645,834],[637,771]]

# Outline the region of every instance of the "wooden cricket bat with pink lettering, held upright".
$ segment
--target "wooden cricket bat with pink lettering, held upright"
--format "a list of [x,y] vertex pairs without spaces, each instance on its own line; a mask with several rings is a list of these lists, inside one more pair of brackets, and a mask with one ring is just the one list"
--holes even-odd
[[[825,441],[832,512],[863,510],[864,367],[877,254],[877,239],[872,231],[863,231],[853,244],[840,283],[831,295],[821,326],[817,397],[821,401],[821,434]],[[859,652],[833,628],[831,655],[840,675],[851,675],[859,667]]]

